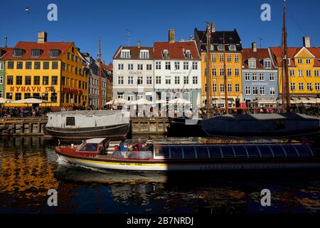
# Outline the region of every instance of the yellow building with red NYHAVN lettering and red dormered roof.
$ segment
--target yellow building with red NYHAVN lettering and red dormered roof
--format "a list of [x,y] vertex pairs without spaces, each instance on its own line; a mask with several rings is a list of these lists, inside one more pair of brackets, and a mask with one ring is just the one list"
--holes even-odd
[[[18,42],[6,53],[5,97],[11,100],[39,98],[46,106],[87,106],[87,78],[74,43],[47,42],[38,33],[37,42]],[[26,106],[8,103],[6,106]]]

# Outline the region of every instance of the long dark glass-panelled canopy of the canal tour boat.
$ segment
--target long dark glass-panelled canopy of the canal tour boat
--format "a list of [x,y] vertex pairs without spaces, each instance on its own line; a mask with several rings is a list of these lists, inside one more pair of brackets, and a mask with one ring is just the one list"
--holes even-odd
[[310,145],[155,145],[155,156],[166,159],[314,157]]

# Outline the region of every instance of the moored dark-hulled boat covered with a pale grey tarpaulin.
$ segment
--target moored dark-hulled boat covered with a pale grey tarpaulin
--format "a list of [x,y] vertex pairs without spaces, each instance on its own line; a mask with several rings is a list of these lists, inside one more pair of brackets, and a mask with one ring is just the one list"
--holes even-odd
[[61,139],[124,138],[129,132],[129,112],[80,110],[48,113],[45,136]]

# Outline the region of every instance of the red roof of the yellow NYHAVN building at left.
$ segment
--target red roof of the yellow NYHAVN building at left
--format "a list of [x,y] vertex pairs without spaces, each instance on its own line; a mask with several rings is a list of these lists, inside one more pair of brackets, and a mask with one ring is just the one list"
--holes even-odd
[[[20,41],[12,48],[9,53],[6,54],[6,60],[47,60],[47,59],[60,59],[60,56],[65,54],[68,51],[68,48],[72,46],[72,42],[46,42],[46,43],[37,43],[37,42],[24,42]],[[14,49],[23,49],[25,53],[21,57],[14,57]],[[40,57],[34,58],[31,57],[32,49],[40,49],[43,51]],[[60,50],[61,54],[58,58],[50,58],[50,50]]]

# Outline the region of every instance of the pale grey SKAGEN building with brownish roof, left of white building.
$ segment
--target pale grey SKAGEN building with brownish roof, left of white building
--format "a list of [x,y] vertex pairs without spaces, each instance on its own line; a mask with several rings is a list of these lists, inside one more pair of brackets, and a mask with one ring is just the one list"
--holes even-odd
[[151,100],[154,92],[154,51],[151,47],[120,46],[113,58],[113,98]]

